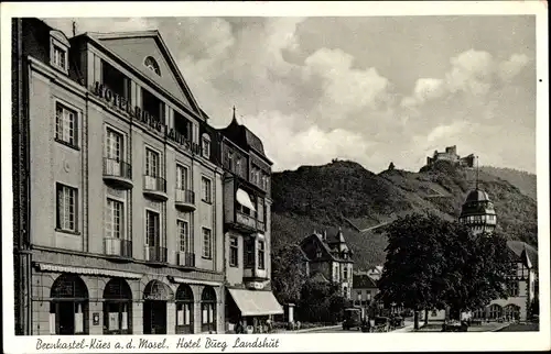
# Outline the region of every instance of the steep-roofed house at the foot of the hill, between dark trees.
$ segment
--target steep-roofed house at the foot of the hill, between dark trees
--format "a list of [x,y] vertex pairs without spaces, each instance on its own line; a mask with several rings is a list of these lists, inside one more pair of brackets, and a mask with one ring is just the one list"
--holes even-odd
[[314,231],[301,242],[301,248],[309,259],[311,279],[337,284],[345,298],[352,299],[354,252],[348,246],[344,233],[338,229],[318,233]]

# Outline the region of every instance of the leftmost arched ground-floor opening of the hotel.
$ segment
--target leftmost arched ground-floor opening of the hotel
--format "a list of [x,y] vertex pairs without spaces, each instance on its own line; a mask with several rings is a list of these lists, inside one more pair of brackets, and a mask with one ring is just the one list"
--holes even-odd
[[74,274],[55,279],[50,302],[51,334],[88,334],[88,289]]

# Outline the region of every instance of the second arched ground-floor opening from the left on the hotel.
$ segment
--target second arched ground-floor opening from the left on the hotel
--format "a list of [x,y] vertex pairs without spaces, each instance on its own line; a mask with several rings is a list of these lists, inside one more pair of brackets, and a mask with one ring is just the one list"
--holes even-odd
[[127,281],[114,278],[104,289],[104,334],[132,333],[132,291]]

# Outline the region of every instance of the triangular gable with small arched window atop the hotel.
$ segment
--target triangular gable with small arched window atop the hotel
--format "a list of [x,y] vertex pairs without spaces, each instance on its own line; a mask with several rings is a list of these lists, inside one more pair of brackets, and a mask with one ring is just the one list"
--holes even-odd
[[[168,91],[176,100],[188,107],[198,118],[205,120],[203,111],[158,30],[112,33],[87,32],[84,35],[140,71],[148,77],[149,80],[153,81],[158,86],[158,89]],[[153,56],[156,62],[162,60],[162,64],[165,64],[168,67],[168,70],[162,70],[160,78],[151,76],[151,73],[144,69],[145,67],[142,65],[142,62],[149,55],[148,52],[152,53],[154,48],[148,47],[147,44],[140,40],[150,40],[156,45],[160,56]]]

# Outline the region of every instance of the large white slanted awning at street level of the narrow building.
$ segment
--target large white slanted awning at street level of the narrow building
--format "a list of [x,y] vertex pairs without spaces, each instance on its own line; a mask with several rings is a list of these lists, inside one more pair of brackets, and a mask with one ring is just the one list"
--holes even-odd
[[228,289],[241,316],[282,314],[283,308],[271,291]]

